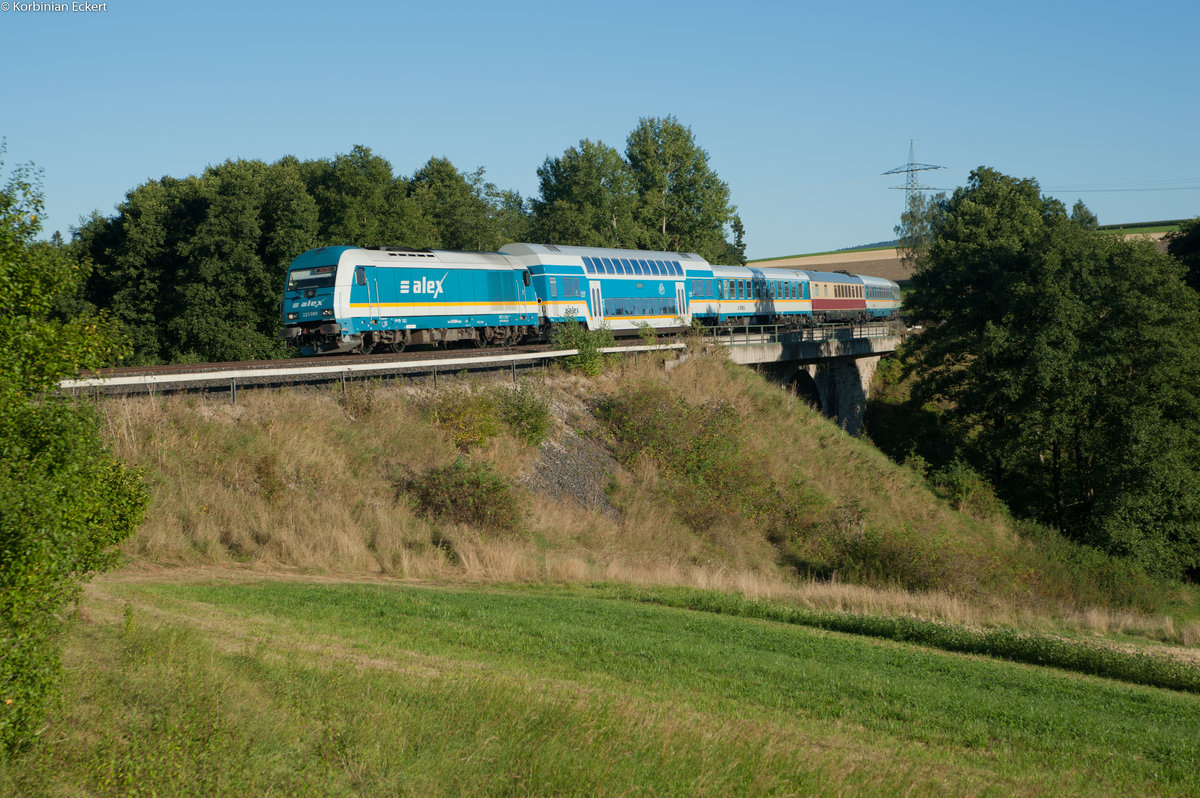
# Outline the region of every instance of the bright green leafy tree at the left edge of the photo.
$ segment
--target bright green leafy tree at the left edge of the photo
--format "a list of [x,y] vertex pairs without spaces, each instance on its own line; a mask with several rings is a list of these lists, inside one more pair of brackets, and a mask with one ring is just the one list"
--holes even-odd
[[59,679],[62,611],[116,563],[145,491],[113,458],[91,408],[47,394],[122,350],[102,316],[55,318],[86,276],[64,247],[34,242],[42,194],[18,168],[0,190],[0,751],[30,742]]

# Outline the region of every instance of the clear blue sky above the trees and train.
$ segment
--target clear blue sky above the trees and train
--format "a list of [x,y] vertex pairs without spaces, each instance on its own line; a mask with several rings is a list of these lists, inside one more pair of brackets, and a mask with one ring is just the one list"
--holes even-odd
[[[68,0],[70,2],[70,0]],[[1200,2],[168,2],[0,6],[7,168],[46,235],[149,179],[355,144],[529,197],[583,138],[674,114],[751,258],[893,238],[908,160],[989,166],[1102,224],[1200,215]],[[404,244],[396,241],[397,245]]]

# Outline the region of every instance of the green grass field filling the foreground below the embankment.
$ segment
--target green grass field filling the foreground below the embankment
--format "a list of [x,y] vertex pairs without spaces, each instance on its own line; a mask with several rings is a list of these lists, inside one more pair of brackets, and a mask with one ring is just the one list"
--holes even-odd
[[1195,794],[1200,696],[587,587],[113,577],[5,794]]

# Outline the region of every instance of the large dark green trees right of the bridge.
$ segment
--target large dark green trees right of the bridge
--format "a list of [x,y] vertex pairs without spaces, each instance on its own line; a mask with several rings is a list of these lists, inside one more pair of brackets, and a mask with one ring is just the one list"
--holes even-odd
[[872,434],[964,467],[1018,515],[1200,574],[1200,220],[1160,252],[1097,230],[1037,181],[979,168],[913,200],[902,348],[911,395]]

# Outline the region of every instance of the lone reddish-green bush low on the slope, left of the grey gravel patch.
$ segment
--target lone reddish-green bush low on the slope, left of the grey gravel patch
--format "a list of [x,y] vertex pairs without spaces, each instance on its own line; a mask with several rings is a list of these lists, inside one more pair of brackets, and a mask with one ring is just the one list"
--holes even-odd
[[497,532],[521,527],[522,508],[516,491],[487,463],[463,457],[436,466],[409,479],[403,490],[426,516]]

